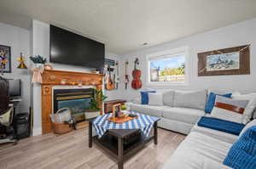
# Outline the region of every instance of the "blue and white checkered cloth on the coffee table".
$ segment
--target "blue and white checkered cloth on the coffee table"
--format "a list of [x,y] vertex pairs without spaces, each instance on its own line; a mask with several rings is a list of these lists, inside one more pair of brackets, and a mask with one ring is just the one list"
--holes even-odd
[[143,115],[136,112],[131,112],[131,114],[138,115],[137,119],[131,121],[126,121],[122,124],[108,121],[112,113],[106,115],[97,116],[92,122],[93,127],[96,129],[98,138],[101,138],[108,129],[140,129],[143,134],[148,137],[151,128],[154,125],[154,121],[158,121],[158,117]]

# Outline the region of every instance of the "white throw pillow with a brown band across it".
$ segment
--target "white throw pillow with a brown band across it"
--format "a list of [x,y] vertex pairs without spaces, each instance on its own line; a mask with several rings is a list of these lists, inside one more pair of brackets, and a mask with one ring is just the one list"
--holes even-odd
[[243,113],[247,104],[248,100],[216,96],[211,116],[224,121],[242,123]]

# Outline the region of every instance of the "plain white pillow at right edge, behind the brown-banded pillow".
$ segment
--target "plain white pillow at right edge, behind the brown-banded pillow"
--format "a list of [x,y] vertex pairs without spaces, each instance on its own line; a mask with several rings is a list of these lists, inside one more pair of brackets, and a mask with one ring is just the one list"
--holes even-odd
[[233,99],[247,99],[249,103],[243,113],[242,123],[247,124],[247,122],[251,121],[253,116],[253,111],[256,107],[256,93],[249,93],[249,94],[234,94],[232,95]]

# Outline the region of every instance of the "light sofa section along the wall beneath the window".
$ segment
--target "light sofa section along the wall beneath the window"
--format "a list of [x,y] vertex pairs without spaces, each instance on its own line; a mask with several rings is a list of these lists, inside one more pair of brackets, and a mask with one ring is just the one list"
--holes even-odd
[[163,105],[140,104],[135,99],[126,105],[131,111],[160,117],[159,127],[189,134],[195,123],[206,115],[207,90],[164,91]]

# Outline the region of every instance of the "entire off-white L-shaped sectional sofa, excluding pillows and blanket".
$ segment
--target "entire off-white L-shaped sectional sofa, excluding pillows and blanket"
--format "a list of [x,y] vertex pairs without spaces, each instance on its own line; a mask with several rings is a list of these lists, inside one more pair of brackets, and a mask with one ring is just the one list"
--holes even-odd
[[[232,93],[227,90],[211,90],[213,93]],[[230,147],[239,136],[197,126],[205,112],[207,94],[210,91],[161,91],[162,105],[140,104],[140,99],[127,103],[131,111],[160,117],[159,127],[189,134],[166,161],[163,169],[231,169],[223,162]],[[255,105],[254,105],[255,108]],[[256,112],[253,113],[256,119]],[[253,125],[256,125],[254,120]],[[252,124],[247,124],[250,126]],[[246,130],[244,127],[243,130]]]

